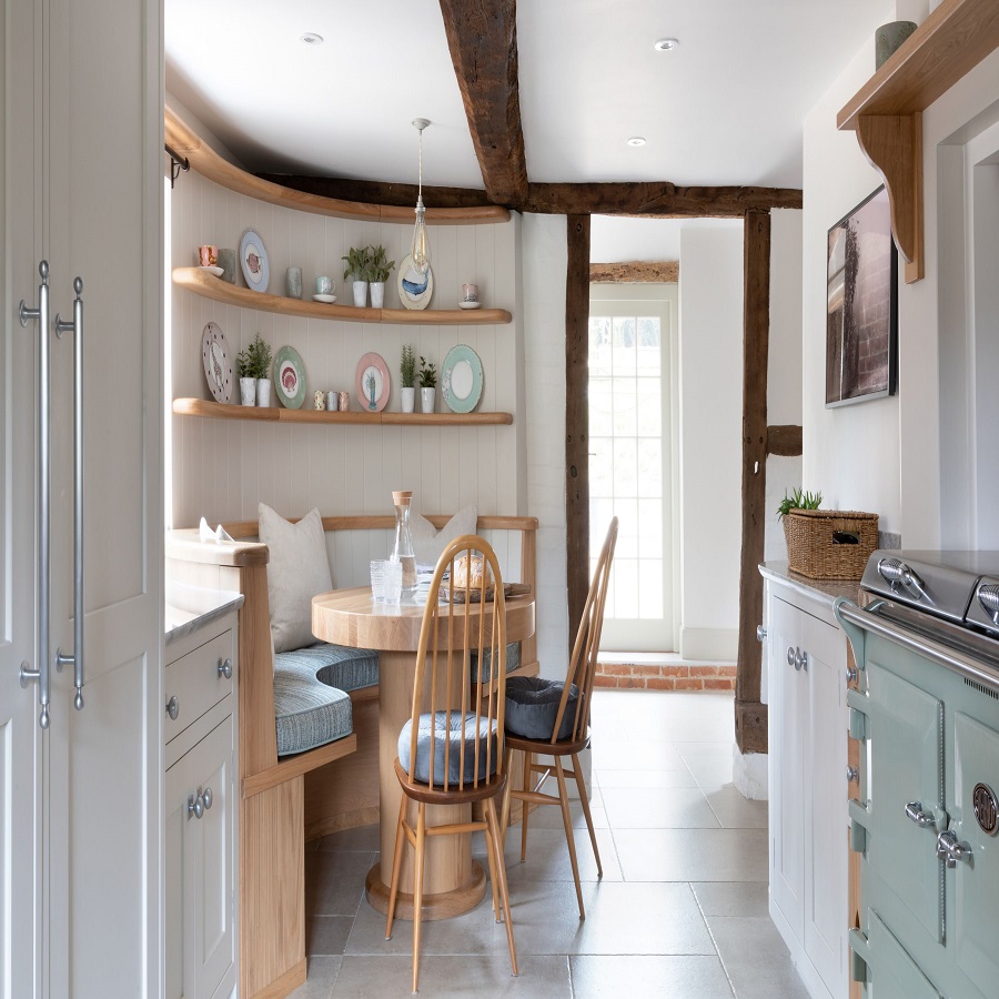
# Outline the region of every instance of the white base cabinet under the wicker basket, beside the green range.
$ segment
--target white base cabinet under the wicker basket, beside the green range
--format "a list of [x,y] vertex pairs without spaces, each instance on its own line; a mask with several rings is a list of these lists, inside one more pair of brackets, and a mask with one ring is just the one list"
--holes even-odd
[[847,642],[833,602],[767,577],[770,916],[809,993],[846,999]]

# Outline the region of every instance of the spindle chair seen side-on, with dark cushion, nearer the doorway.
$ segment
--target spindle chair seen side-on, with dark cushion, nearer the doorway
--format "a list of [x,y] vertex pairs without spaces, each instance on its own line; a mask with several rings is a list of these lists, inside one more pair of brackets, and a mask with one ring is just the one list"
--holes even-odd
[[[576,881],[576,900],[579,904],[579,918],[586,918],[583,906],[583,890],[579,886],[579,866],[576,862],[576,846],[573,837],[573,819],[569,813],[569,798],[566,789],[566,776],[574,777],[579,789],[583,815],[589,829],[589,841],[597,864],[597,877],[604,876],[601,866],[601,851],[597,848],[596,833],[593,828],[593,816],[589,800],[586,797],[586,785],[579,768],[578,754],[589,746],[589,708],[593,702],[593,678],[596,674],[597,653],[601,648],[601,632],[604,627],[604,604],[607,599],[607,583],[610,576],[610,563],[617,544],[617,517],[612,518],[604,539],[604,547],[597,559],[589,593],[583,607],[583,617],[576,633],[573,654],[569,657],[565,680],[547,680],[542,677],[517,677],[511,680],[507,688],[506,705],[506,749],[504,766],[509,768],[509,757],[514,749],[524,754],[523,789],[514,790],[509,783],[503,797],[503,837],[509,823],[509,799],[517,798],[524,803],[521,819],[521,860],[527,859],[527,813],[528,805],[558,805],[562,808],[562,820],[565,825],[565,838],[568,841],[569,861],[573,866],[573,878]],[[558,795],[545,794],[542,788],[552,775],[552,765],[535,763],[535,757],[546,755],[553,757],[555,778],[558,781]],[[573,768],[563,766],[563,757],[572,759]],[[534,776],[539,779],[532,788]]]

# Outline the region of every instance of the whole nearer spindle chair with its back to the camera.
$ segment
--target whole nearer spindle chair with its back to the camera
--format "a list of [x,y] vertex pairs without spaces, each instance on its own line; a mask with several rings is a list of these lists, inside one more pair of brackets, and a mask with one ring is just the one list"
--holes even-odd
[[[455,586],[455,568],[462,557],[482,558],[481,584],[466,574]],[[442,586],[445,572],[450,582]],[[491,593],[492,592],[492,593]],[[473,678],[471,656],[480,668]],[[488,662],[490,666],[484,665]],[[503,754],[503,719],[506,695],[506,601],[500,563],[482,537],[465,534],[444,549],[437,562],[420,629],[413,710],[398,738],[395,774],[402,787],[395,856],[389,894],[385,938],[398,895],[403,848],[406,841],[415,858],[413,890],[413,991],[420,972],[420,922],[423,905],[424,844],[427,836],[470,835],[482,830],[493,886],[493,912],[506,920],[509,962],[517,973],[517,955],[509,918],[509,895],[503,862],[503,838],[495,798],[506,786]],[[407,818],[408,803],[416,805],[416,823]],[[430,826],[427,805],[482,803],[480,821]]]

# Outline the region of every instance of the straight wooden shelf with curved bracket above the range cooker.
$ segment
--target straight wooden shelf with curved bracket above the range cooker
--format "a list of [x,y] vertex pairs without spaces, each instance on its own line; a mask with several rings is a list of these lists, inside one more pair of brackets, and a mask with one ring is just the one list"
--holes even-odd
[[944,0],[836,119],[885,180],[909,284],[924,275],[922,112],[997,47],[996,0]]

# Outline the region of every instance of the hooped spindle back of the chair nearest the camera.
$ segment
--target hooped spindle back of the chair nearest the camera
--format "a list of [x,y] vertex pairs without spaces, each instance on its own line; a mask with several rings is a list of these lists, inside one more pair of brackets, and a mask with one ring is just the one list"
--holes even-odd
[[[481,584],[474,585],[468,572],[463,586],[453,585],[458,561],[465,557],[471,566],[473,556],[482,558]],[[450,573],[446,582],[445,573]],[[475,678],[471,667],[473,653],[478,657]],[[506,599],[500,561],[485,538],[464,534],[447,545],[437,562],[420,629],[413,683],[410,780],[415,779],[420,716],[427,712],[432,715],[443,713],[445,731],[450,731],[458,719],[474,718],[471,729],[461,725],[460,738],[444,739],[443,784],[434,779],[441,748],[436,738],[431,740],[428,783],[433,788],[463,791],[488,783],[494,773],[501,775],[505,700]],[[495,745],[492,738],[477,737],[483,720],[486,731],[495,731]],[[458,754],[456,783],[451,778],[454,753]],[[471,779],[466,778],[470,757]],[[483,777],[480,777],[481,770]]]

